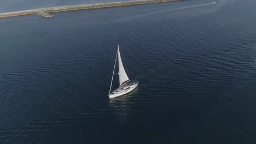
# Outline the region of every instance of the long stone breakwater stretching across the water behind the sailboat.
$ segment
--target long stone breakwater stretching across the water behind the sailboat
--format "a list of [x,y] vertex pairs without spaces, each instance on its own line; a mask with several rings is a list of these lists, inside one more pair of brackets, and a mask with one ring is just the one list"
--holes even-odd
[[85,10],[85,9],[98,9],[98,8],[110,8],[110,7],[125,7],[130,5],[150,4],[150,3],[163,3],[163,2],[174,2],[181,0],[141,0],[141,1],[126,1],[126,2],[109,2],[109,3],[97,3],[97,4],[80,4],[80,5],[65,5],[58,7],[39,8],[24,11],[15,11],[10,13],[2,13],[1,17],[13,17],[21,15],[32,15],[37,14],[44,17],[53,17],[50,13],[57,13],[62,11],[74,11],[74,10]]

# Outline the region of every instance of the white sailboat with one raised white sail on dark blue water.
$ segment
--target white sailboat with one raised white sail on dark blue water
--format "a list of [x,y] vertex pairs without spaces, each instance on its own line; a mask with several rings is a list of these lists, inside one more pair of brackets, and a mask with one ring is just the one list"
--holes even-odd
[[124,65],[122,63],[122,59],[119,51],[119,45],[118,45],[117,56],[115,57],[115,64],[117,63],[117,57],[118,57],[118,68],[119,68],[119,88],[115,89],[115,91],[110,93],[114,72],[115,72],[115,65],[114,65],[112,80],[111,80],[109,94],[108,94],[108,97],[110,99],[129,93],[138,86],[138,81],[131,81],[125,72]]

